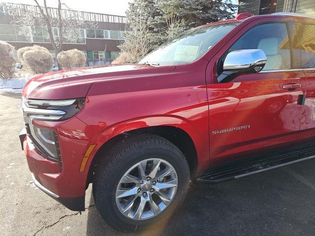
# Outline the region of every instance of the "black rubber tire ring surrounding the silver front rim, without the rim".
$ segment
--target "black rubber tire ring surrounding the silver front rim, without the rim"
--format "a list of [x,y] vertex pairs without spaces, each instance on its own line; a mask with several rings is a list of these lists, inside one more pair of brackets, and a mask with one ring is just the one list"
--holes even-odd
[[[178,178],[177,190],[170,205],[157,216],[147,220],[132,220],[124,216],[118,209],[116,204],[117,186],[129,168],[142,160],[151,158],[163,159],[174,167]],[[164,144],[144,144],[131,148],[109,166],[105,176],[104,181],[98,183],[98,191],[101,191],[102,199],[98,201],[97,208],[110,226],[122,231],[141,229],[146,224],[157,222],[161,218],[171,215],[175,208],[184,201],[188,192],[189,167],[185,157],[180,150]]]

